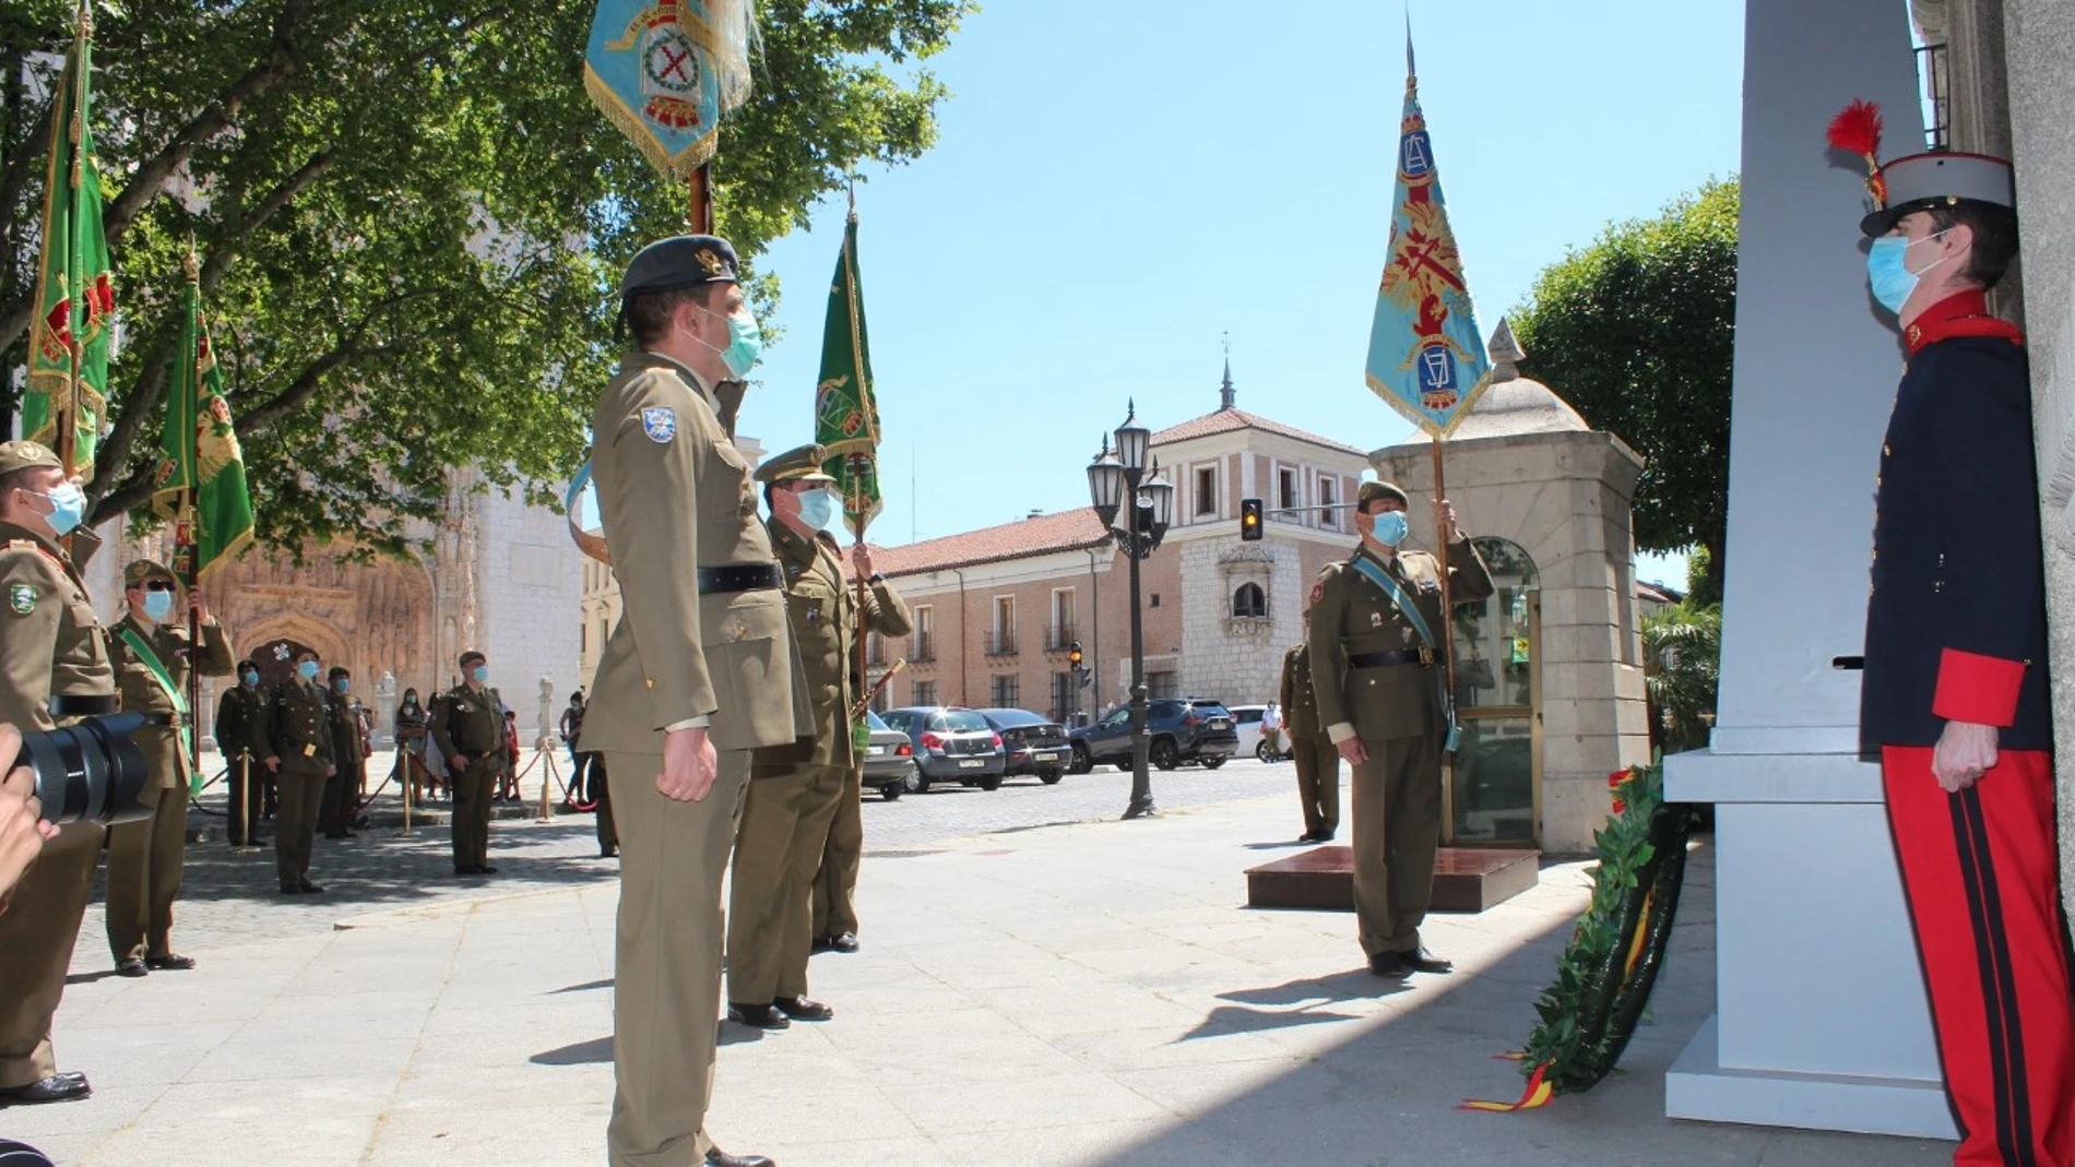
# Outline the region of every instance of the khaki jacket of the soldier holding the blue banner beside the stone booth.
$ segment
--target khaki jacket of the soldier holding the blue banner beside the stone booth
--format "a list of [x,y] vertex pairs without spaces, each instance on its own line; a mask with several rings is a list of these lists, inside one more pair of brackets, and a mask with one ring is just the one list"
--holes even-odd
[[[1355,549],[1380,564],[1419,605],[1428,630],[1440,638],[1440,560],[1426,551],[1401,551],[1384,564],[1367,545]],[[1349,667],[1361,653],[1417,651],[1419,632],[1399,611],[1390,595],[1353,570],[1351,556],[1326,564],[1311,585],[1311,688],[1318,719],[1334,742],[1347,738],[1390,740],[1442,734],[1440,659],[1434,665]],[[1450,599],[1492,595],[1492,574],[1469,539],[1448,547]],[[1444,651],[1436,645],[1436,653]]]

